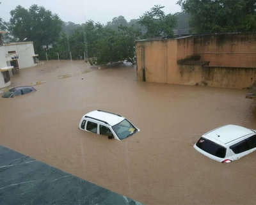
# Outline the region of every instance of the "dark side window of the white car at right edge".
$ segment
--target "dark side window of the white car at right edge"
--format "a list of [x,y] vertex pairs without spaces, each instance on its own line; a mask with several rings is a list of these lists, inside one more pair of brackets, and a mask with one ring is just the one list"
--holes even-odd
[[238,142],[230,146],[230,149],[232,149],[232,151],[234,151],[235,154],[239,154],[239,153],[243,153],[244,151],[248,151],[249,149],[253,149],[255,147],[256,147],[256,136],[253,135],[248,139],[245,139],[241,142]]

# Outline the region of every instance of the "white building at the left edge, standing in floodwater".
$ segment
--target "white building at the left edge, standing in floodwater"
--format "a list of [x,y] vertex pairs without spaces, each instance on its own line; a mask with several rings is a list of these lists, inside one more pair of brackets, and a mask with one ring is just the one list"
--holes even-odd
[[38,57],[33,42],[4,44],[3,33],[0,31],[0,88],[10,86],[10,76],[19,69],[35,66]]

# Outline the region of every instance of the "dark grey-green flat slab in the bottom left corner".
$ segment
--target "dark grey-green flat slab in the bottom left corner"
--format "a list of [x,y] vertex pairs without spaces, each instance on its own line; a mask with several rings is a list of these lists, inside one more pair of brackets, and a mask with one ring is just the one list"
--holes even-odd
[[3,146],[0,172],[0,204],[141,204]]

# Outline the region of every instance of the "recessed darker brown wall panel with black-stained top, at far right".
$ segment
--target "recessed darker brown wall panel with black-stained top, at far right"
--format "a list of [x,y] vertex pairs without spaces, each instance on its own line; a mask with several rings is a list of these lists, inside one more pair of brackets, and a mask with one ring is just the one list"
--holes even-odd
[[256,67],[256,34],[195,36],[195,55],[210,66]]

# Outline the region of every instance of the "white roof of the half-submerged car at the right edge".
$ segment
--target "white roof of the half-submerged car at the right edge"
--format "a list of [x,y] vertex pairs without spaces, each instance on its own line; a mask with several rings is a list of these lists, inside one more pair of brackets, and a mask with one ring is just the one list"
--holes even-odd
[[243,126],[225,125],[205,133],[203,137],[224,145],[252,133],[252,130]]

